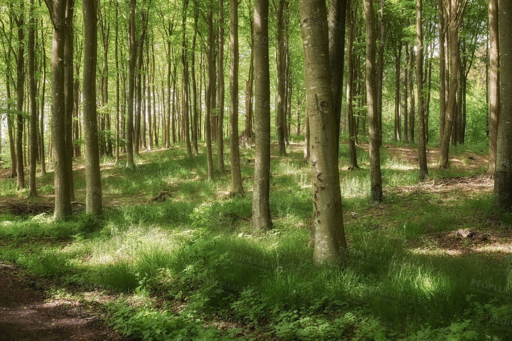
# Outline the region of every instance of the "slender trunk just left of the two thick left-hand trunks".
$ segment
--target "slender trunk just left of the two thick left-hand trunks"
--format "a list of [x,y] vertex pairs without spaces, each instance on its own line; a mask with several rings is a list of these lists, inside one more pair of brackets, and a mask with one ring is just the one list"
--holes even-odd
[[[29,179],[29,197],[37,196],[35,187],[35,159],[37,155],[36,141],[36,100],[35,100],[35,79],[34,79],[34,45],[35,45],[35,18],[34,18],[34,0],[30,0],[29,9],[29,89],[30,89],[30,179]],[[19,56],[19,58],[23,58]],[[1,135],[0,135],[1,136]]]

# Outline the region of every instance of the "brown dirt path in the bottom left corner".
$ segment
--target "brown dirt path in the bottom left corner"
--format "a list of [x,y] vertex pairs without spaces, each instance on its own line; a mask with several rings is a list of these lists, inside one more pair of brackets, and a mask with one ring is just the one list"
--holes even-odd
[[45,302],[41,290],[19,280],[16,269],[0,264],[0,340],[101,341],[120,336],[79,309]]

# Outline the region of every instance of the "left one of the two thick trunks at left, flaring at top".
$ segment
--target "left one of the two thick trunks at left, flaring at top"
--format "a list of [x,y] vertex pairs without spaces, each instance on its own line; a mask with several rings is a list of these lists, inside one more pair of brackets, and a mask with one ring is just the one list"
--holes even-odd
[[[55,213],[57,219],[71,215],[68,155],[66,151],[66,106],[64,46],[66,39],[65,0],[47,2],[53,24],[52,43],[52,119],[51,141],[55,180]],[[19,54],[18,54],[19,55]],[[19,175],[19,174],[18,174]]]

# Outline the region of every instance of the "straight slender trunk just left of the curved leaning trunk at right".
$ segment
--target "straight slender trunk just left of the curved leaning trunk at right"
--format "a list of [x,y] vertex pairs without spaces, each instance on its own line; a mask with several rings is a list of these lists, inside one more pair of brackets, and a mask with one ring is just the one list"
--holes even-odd
[[426,142],[424,119],[424,94],[423,94],[423,1],[416,0],[416,83],[418,90],[418,161],[419,180],[425,180],[429,175],[426,167]]

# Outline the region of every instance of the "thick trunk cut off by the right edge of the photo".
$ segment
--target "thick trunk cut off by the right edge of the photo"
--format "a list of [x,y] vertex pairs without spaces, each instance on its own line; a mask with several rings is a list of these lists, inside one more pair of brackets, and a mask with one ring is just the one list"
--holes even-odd
[[[496,2],[495,2],[496,4]],[[490,7],[490,6],[489,6]],[[499,0],[500,118],[496,143],[494,195],[499,209],[512,212],[512,3]]]

